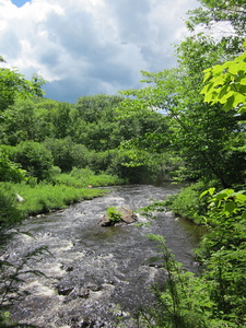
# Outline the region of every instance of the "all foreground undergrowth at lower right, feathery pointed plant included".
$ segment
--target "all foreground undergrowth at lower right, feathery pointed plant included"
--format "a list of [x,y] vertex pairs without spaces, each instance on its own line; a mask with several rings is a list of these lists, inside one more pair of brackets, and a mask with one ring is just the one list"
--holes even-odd
[[[194,186],[183,190],[176,198],[177,203],[185,204],[185,199],[192,199],[194,190]],[[246,190],[215,192],[211,187],[198,198],[192,203],[204,201],[207,204],[201,219],[208,233],[197,250],[203,271],[196,277],[183,270],[167,249],[165,239],[151,235],[159,245],[166,274],[163,285],[154,285],[155,302],[140,313],[139,327],[246,327]],[[192,215],[197,213],[188,204],[185,210]]]

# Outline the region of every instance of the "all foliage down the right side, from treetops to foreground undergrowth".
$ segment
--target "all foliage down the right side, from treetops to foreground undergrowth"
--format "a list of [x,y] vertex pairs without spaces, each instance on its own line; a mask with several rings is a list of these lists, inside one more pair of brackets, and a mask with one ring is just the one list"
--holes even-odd
[[[168,134],[122,143],[133,151],[132,162],[143,148],[159,154],[153,144],[162,144],[162,154],[178,164],[171,175],[195,183],[149,210],[168,207],[208,230],[197,250],[201,277],[181,270],[164,239],[153,237],[167,278],[154,290],[154,307],[141,315],[144,327],[246,326],[245,1],[200,2],[187,22],[194,34],[176,47],[178,67],[143,72],[147,86],[122,92],[127,98],[119,107],[128,117],[161,112],[168,122]],[[209,30],[196,33],[197,25]],[[218,25],[224,33],[213,37]]]

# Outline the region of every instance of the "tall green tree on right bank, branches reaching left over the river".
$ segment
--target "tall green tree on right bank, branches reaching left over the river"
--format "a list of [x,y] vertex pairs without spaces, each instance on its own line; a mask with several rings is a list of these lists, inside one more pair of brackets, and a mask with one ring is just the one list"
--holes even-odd
[[177,69],[143,72],[143,82],[149,86],[124,92],[133,96],[134,101],[127,99],[121,105],[121,112],[127,115],[153,115],[153,112],[160,110],[167,116],[168,134],[162,133],[160,137],[162,140],[168,139],[172,147],[163,147],[163,152],[168,150],[183,159],[187,177],[215,178],[223,187],[239,183],[245,161],[241,153],[233,150],[242,129],[235,112],[225,113],[220,104],[204,104],[200,95],[203,70],[221,62],[223,52],[221,49],[218,51],[216,44],[210,37],[201,34],[186,38],[178,46],[177,55]]

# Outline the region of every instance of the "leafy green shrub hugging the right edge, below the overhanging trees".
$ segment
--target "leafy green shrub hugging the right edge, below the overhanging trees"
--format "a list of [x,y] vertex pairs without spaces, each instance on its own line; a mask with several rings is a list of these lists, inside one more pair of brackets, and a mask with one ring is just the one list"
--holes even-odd
[[210,233],[203,238],[198,255],[207,266],[207,280],[213,282],[214,314],[244,327],[246,190],[224,189],[215,194],[215,188],[210,188],[206,192],[210,195],[207,220]]

